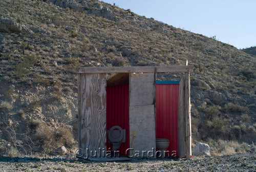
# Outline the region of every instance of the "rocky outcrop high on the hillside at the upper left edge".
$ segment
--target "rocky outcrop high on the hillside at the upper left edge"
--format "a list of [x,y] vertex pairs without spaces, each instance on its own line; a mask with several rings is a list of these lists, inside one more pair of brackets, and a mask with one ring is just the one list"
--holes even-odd
[[0,18],[0,32],[26,32],[33,33],[30,29],[26,28],[24,25],[21,25],[15,22],[12,19]]

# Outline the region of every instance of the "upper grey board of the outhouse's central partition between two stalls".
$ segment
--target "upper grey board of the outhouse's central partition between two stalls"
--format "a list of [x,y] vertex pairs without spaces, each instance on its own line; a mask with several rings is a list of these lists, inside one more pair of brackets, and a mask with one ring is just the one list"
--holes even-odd
[[130,106],[156,102],[155,73],[130,74]]

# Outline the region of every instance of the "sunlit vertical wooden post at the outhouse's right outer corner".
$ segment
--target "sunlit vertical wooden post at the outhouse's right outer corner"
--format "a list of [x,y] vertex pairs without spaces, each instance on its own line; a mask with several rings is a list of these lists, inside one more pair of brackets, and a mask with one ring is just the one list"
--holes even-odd
[[[186,60],[186,66],[188,61]],[[186,130],[186,159],[191,156],[191,113],[190,113],[190,73],[185,72],[185,130]]]

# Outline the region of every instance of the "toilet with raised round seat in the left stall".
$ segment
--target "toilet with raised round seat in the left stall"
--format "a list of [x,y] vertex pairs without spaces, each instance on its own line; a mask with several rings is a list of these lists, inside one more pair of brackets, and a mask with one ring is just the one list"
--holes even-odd
[[121,143],[126,142],[126,130],[122,129],[120,126],[115,125],[107,131],[108,134],[108,141],[113,145],[112,150],[118,150]]

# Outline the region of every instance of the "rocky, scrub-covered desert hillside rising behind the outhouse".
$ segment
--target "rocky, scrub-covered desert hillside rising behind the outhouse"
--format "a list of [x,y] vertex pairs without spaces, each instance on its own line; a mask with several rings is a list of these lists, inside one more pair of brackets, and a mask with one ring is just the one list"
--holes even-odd
[[0,152],[74,146],[76,68],[184,65],[186,59],[195,67],[194,142],[255,142],[255,56],[95,0],[2,0]]

